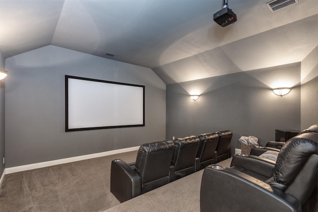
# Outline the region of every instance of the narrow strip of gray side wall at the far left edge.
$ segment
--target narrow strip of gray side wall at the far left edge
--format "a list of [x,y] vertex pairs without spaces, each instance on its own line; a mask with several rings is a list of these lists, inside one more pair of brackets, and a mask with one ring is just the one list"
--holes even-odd
[[[0,50],[0,69],[4,70],[4,57]],[[0,81],[0,177],[4,170],[3,157],[5,153],[4,148],[4,80]]]

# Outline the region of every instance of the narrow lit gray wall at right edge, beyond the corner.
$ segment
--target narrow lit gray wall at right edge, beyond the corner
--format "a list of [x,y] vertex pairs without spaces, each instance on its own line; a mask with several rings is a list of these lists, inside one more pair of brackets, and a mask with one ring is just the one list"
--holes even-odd
[[302,61],[301,129],[318,124],[318,46]]

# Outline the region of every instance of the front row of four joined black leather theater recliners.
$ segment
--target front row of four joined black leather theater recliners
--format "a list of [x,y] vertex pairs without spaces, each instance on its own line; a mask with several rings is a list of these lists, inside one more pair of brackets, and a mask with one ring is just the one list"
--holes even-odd
[[231,157],[231,131],[144,143],[136,162],[113,160],[110,192],[124,202]]

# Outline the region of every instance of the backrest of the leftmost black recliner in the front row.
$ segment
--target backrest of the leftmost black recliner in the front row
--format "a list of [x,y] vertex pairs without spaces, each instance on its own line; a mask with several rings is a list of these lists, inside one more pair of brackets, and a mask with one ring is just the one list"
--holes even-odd
[[[147,187],[143,188],[142,193],[154,189],[157,184],[161,186],[161,184],[164,185],[169,182],[168,176],[173,150],[174,144],[172,141],[144,143],[139,147],[135,170],[141,176],[142,187]],[[153,181],[160,182],[154,182],[153,184],[156,185],[152,185],[151,182]],[[147,186],[145,186],[146,184]]]

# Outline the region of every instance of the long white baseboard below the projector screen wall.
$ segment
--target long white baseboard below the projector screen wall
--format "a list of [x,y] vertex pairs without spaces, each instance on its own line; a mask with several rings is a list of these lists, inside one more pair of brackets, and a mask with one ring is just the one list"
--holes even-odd
[[[46,162],[33,163],[33,164],[28,164],[28,165],[5,168],[3,171],[2,177],[4,178],[5,174],[11,174],[11,173],[20,172],[20,171],[27,171],[27,170],[31,170],[31,169],[54,166],[54,165],[59,165],[59,164],[64,164],[64,163],[71,163],[71,162],[75,162],[75,161],[79,161],[79,160],[86,160],[86,159],[91,159],[91,158],[96,158],[96,157],[103,157],[103,156],[108,156],[108,155],[112,155],[112,154],[119,154],[119,153],[134,151],[134,150],[138,150],[138,149],[139,149],[139,146],[134,146],[134,147],[129,147],[129,148],[104,151],[104,152],[99,152],[99,153],[94,153],[94,154],[86,154],[86,155],[81,155],[81,156],[76,156],[76,157],[68,157],[68,158],[63,158],[63,159],[58,159],[58,160],[51,160],[51,161],[46,161]],[[2,182],[2,177],[1,177],[0,183]]]

